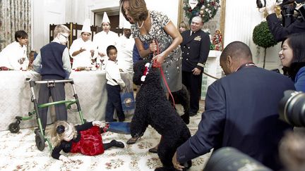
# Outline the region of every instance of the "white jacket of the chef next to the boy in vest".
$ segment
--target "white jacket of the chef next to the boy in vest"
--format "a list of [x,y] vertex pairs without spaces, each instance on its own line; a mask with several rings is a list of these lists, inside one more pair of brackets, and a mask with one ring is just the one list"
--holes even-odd
[[[75,51],[78,51],[80,48],[86,49],[85,51],[78,53],[76,56],[72,56]],[[72,69],[76,69],[78,67],[90,67],[91,66],[91,52],[90,50],[95,50],[96,48],[92,41],[89,39],[88,41],[84,42],[82,38],[78,38],[73,41],[71,44],[69,53],[71,58],[73,58],[73,65]]]

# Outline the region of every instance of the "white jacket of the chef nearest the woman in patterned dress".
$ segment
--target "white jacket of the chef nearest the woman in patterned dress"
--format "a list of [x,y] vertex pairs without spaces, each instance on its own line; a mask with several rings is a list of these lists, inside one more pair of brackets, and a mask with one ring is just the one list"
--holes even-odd
[[127,39],[125,35],[119,37],[117,44],[119,68],[125,72],[133,72],[133,46],[135,41],[133,37]]

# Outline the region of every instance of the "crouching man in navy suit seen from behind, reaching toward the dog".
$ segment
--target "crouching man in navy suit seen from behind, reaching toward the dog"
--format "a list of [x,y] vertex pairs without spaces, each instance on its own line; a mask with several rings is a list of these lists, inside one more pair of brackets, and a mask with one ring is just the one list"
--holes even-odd
[[224,146],[232,146],[273,170],[281,165],[277,145],[291,126],[279,120],[278,103],[293,82],[277,72],[258,68],[249,46],[242,42],[227,45],[220,56],[226,77],[208,87],[205,112],[198,131],[177,148],[173,163],[196,158]]

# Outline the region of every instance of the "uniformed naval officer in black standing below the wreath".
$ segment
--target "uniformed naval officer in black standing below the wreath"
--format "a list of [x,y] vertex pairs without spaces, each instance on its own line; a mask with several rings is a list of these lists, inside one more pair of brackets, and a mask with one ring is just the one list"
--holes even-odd
[[210,51],[210,37],[201,27],[203,20],[196,16],[191,21],[191,30],[181,34],[182,83],[190,93],[190,116],[196,115],[199,109],[202,73]]

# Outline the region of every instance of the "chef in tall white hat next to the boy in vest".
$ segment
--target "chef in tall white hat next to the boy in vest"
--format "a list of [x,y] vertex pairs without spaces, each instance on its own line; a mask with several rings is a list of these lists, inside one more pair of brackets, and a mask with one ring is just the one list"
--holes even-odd
[[95,58],[95,51],[95,45],[91,41],[90,20],[86,19],[80,38],[73,41],[69,50],[73,58],[72,69],[90,68],[92,58]]

